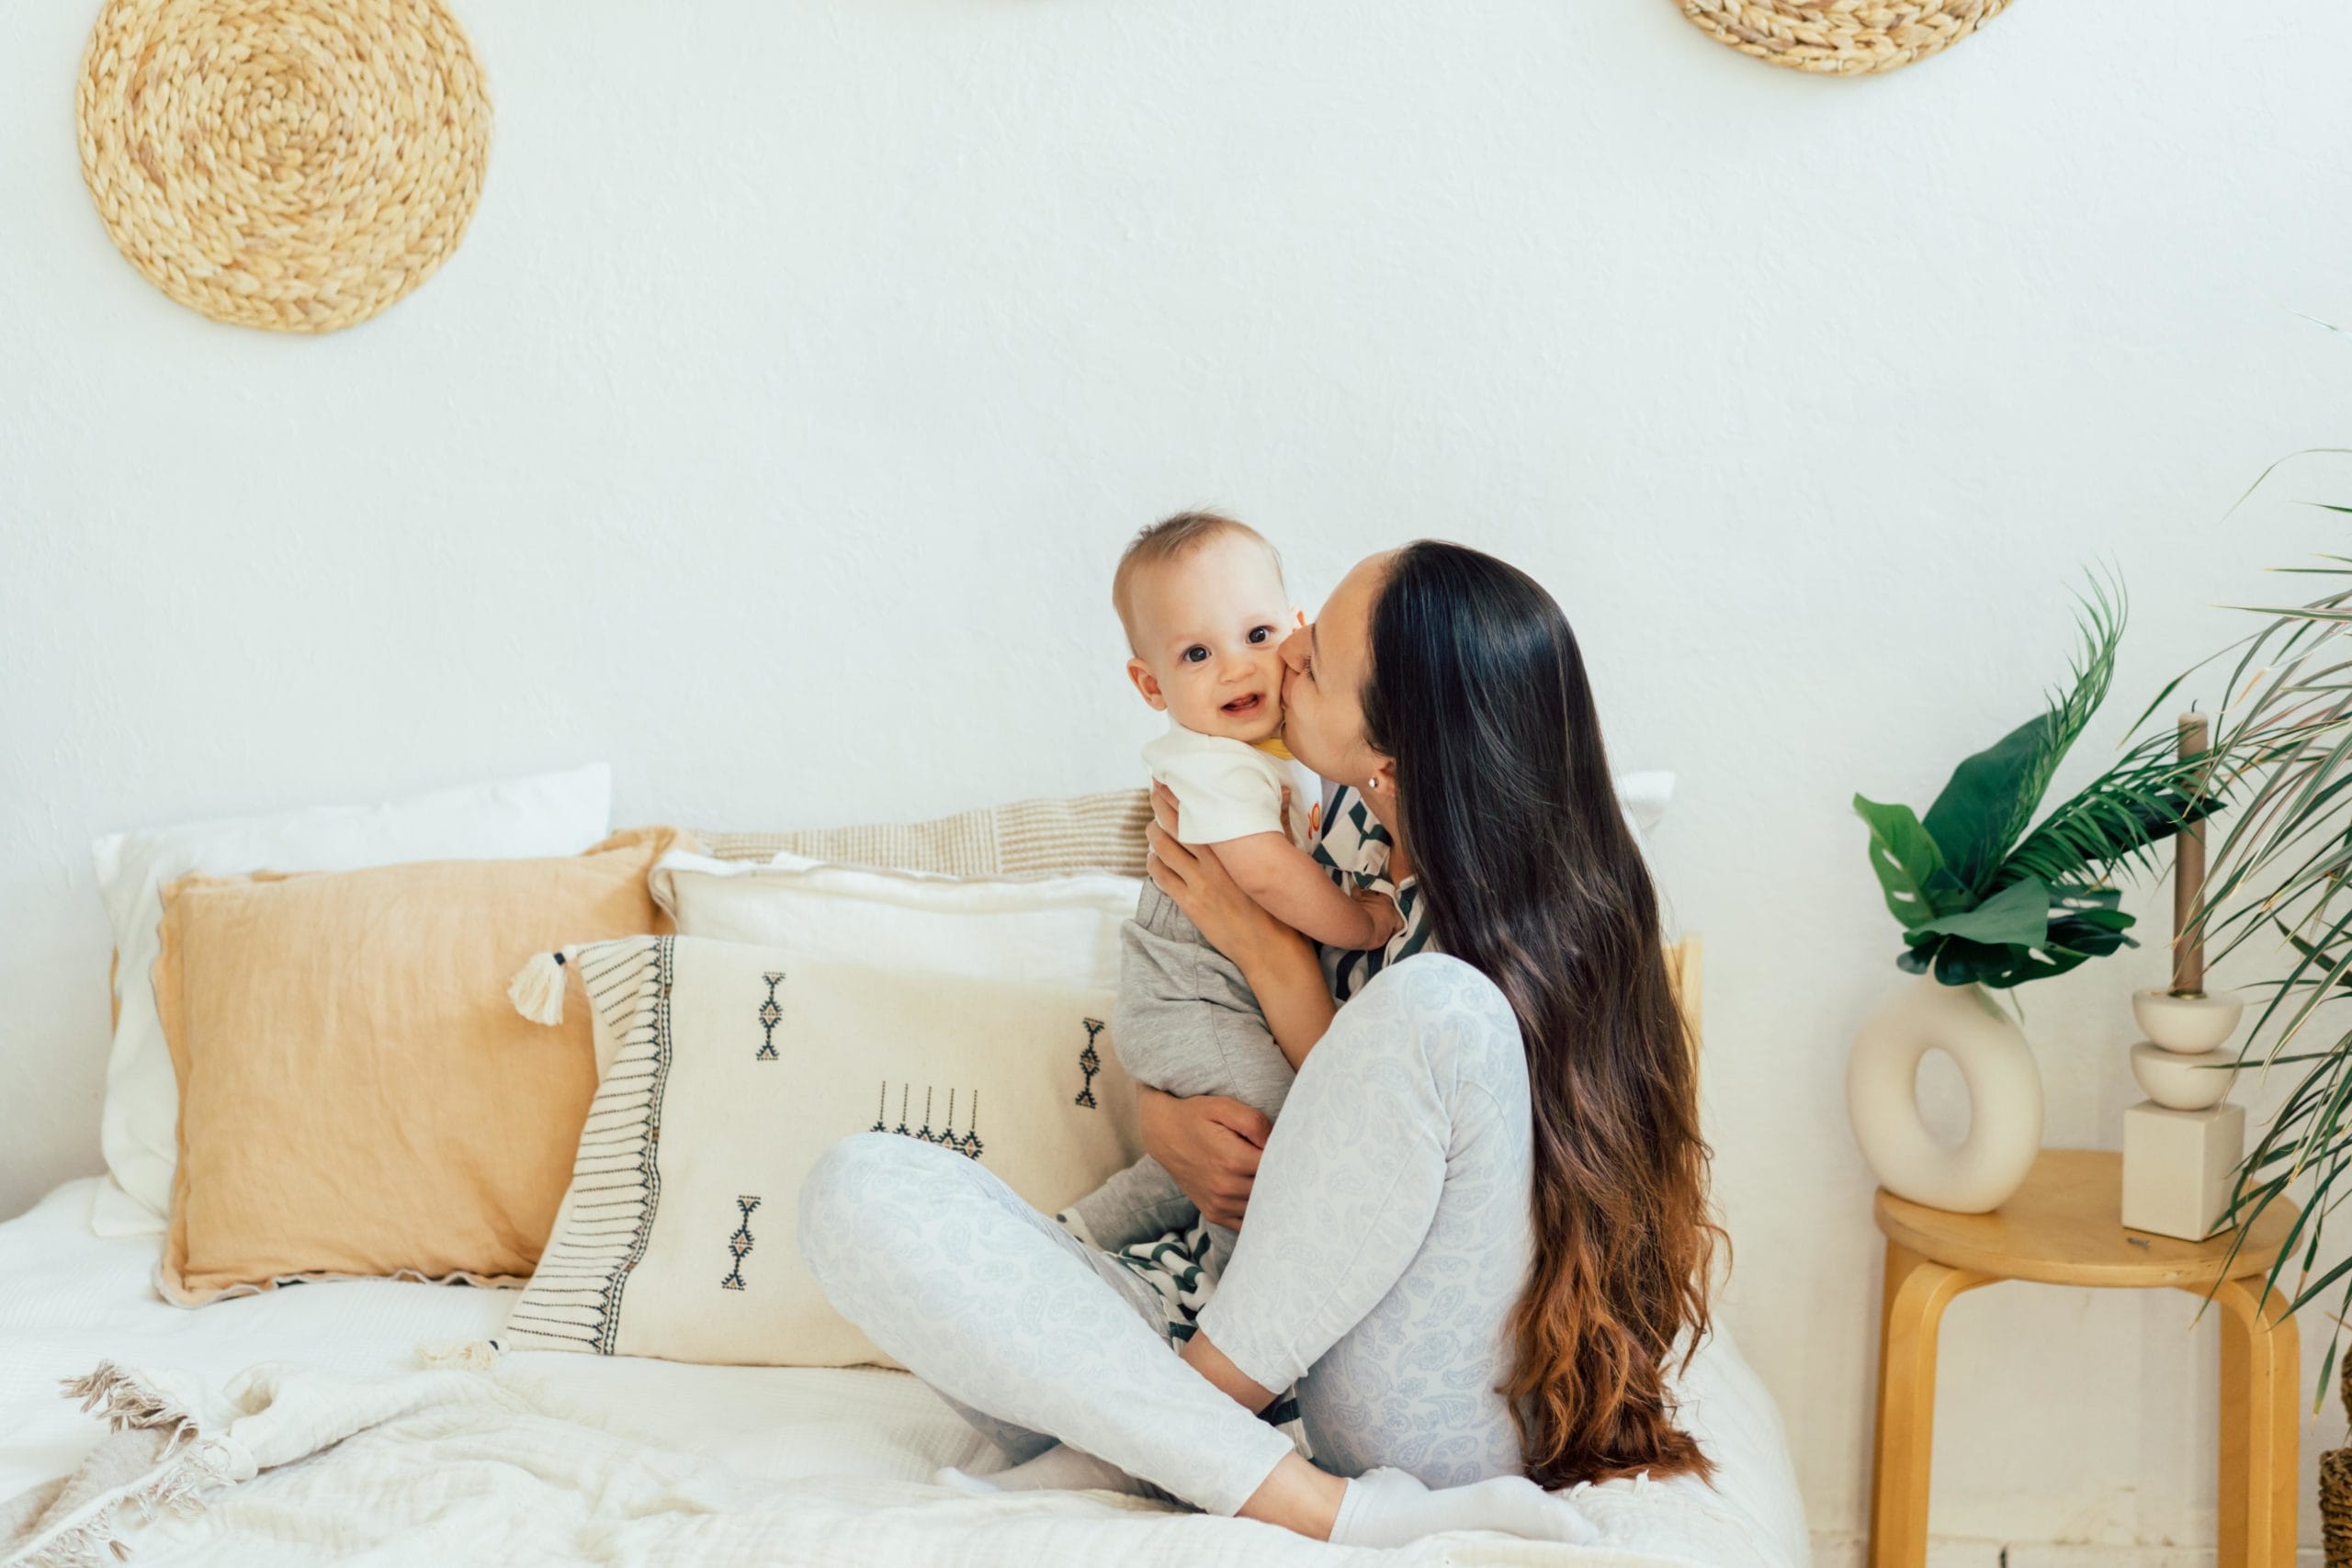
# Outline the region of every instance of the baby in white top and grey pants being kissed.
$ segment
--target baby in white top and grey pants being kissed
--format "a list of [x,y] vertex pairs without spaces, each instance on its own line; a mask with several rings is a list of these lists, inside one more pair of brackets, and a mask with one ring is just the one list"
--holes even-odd
[[[1289,752],[1277,736],[1294,611],[1272,545],[1230,517],[1181,512],[1127,545],[1110,599],[1134,651],[1129,679],[1169,715],[1143,764],[1176,795],[1176,837],[1207,846],[1244,893],[1317,943],[1385,945],[1402,924],[1395,903],[1343,893],[1291,837]],[[1122,929],[1110,1032],[1138,1084],[1232,1095],[1268,1117],[1298,1067],[1242,971],[1150,882]],[[1183,1229],[1192,1204],[1145,1154],[1058,1218],[1091,1246],[1122,1248]],[[1209,1227],[1211,1274],[1223,1274],[1232,1239]]]

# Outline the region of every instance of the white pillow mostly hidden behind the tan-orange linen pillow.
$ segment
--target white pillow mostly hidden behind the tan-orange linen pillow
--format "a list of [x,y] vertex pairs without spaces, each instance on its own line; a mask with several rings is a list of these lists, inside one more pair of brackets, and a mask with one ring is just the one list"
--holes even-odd
[[89,1225],[101,1237],[162,1234],[179,1164],[179,1079],[155,1016],[151,971],[160,889],[191,872],[346,872],[402,860],[572,856],[612,830],[612,766],[437,790],[376,806],[146,827],[96,839],[99,896],[115,929],[115,1020],[99,1140],[113,1180]]

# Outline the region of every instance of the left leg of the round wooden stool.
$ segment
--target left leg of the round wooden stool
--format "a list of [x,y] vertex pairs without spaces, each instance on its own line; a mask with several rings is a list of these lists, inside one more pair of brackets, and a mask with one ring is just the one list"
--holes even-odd
[[1936,1439],[1936,1326],[1962,1291],[1990,1284],[1886,1244],[1879,1302],[1879,1429],[1870,1460],[1870,1568],[1924,1568],[1926,1476]]

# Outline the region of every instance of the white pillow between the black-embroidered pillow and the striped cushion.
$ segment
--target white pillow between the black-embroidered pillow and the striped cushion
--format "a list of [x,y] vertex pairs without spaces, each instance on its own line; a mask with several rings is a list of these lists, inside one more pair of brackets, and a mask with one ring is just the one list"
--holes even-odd
[[1143,882],[934,877],[781,853],[767,865],[670,851],[654,903],[680,936],[971,980],[1117,990],[1120,924]]

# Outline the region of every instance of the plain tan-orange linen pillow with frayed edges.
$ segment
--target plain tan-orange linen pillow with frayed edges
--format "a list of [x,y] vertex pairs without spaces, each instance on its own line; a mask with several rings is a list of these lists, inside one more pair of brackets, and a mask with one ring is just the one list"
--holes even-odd
[[508,976],[581,936],[666,931],[677,830],[550,860],[183,877],[155,1006],[179,1077],[158,1288],[183,1307],[287,1279],[520,1284],[595,1093],[586,1018],[515,1016]]

